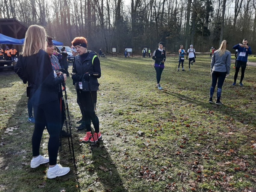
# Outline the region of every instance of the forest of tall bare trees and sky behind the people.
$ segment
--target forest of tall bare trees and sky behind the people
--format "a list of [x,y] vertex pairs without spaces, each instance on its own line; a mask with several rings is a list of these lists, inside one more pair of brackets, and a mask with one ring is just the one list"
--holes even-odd
[[256,0],[0,0],[0,10],[0,18],[45,26],[66,46],[84,36],[89,50],[106,53],[111,47],[141,53],[160,41],[167,52],[177,52],[180,44],[209,52],[224,39],[234,53],[243,38],[256,53]]

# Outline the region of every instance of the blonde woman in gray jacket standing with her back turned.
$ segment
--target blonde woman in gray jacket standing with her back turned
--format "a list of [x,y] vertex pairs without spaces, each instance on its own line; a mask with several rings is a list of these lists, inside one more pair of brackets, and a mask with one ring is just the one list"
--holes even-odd
[[222,85],[226,77],[229,76],[230,63],[231,63],[231,53],[226,50],[227,41],[221,42],[221,47],[216,50],[212,55],[211,62],[211,75],[212,75],[212,86],[210,88],[210,99],[209,103],[213,103],[212,96],[218,80],[218,90],[217,90],[217,101],[216,105],[221,105],[221,90]]

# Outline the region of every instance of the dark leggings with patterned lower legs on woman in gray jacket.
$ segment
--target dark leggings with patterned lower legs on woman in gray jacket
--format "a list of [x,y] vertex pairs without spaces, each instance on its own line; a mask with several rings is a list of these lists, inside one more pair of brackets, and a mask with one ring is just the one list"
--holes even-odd
[[217,80],[218,80],[217,101],[220,101],[222,85],[224,83],[226,73],[227,72],[212,71],[212,86],[210,88],[210,98],[212,98],[213,96],[213,93],[217,84]]

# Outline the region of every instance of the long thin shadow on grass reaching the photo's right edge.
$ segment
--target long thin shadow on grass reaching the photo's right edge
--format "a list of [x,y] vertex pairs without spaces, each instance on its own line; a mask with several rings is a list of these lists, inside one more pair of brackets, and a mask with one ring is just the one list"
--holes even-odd
[[[255,114],[247,113],[247,112],[244,112],[244,111],[237,111],[237,110],[229,108],[225,105],[215,105],[215,104],[210,104],[210,103],[206,104],[206,103],[201,102],[199,100],[191,99],[190,97],[182,95],[180,93],[171,93],[171,92],[166,91],[166,90],[164,90],[164,93],[167,93],[169,95],[177,97],[180,100],[187,101],[188,103],[193,103],[193,104],[201,105],[201,106],[208,105],[209,108],[214,108],[214,111],[218,111],[219,113],[224,114],[224,115],[229,115],[230,117],[232,117],[235,120],[240,121],[241,123],[245,123],[244,118],[246,118],[246,119],[255,119],[256,118]],[[253,121],[251,121],[251,123],[246,122],[246,124],[250,124],[251,126],[254,126]]]

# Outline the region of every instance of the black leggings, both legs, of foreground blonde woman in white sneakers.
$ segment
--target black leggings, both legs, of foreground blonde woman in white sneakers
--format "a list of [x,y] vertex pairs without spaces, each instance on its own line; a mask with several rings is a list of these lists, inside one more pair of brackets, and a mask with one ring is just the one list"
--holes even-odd
[[56,165],[59,149],[59,133],[61,130],[61,114],[59,101],[52,101],[44,105],[33,105],[35,130],[32,136],[33,157],[38,156],[40,143],[45,126],[50,135],[48,141],[49,164]]

